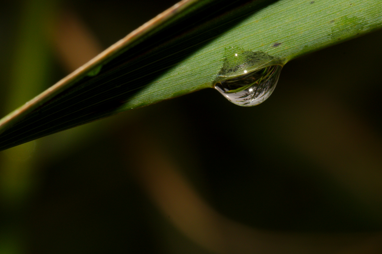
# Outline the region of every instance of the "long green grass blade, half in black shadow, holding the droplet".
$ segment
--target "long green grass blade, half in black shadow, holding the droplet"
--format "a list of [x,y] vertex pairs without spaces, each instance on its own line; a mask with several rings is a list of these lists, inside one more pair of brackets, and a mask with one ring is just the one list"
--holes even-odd
[[3,118],[0,150],[212,87],[235,50],[285,64],[380,27],[378,0],[182,1]]

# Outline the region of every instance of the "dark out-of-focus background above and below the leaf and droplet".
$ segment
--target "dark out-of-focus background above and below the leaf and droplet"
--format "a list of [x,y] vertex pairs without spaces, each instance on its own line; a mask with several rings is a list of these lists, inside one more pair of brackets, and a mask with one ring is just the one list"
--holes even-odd
[[[1,115],[175,2],[3,0]],[[382,252],[381,40],[0,152],[0,253]]]

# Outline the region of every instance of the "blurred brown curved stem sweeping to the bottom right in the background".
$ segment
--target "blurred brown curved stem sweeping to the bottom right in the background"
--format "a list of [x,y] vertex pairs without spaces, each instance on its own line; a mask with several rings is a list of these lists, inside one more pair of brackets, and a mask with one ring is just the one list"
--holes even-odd
[[[376,234],[296,234],[241,225],[215,211],[181,176],[147,132],[135,130],[126,145],[137,181],[178,230],[209,251],[245,253],[380,253]],[[353,252],[351,252],[353,251]],[[354,252],[355,251],[355,252]]]

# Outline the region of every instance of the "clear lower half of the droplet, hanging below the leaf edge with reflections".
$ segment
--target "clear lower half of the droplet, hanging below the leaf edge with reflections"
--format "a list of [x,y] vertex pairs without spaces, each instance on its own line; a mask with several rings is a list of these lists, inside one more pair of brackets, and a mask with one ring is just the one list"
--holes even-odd
[[271,65],[215,83],[215,89],[240,106],[254,106],[265,101],[275,89],[282,65]]

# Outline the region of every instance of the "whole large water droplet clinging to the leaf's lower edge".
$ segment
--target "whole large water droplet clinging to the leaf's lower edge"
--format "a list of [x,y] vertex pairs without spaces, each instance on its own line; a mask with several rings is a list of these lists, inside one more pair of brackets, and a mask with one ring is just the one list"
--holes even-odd
[[280,59],[267,53],[246,51],[242,54],[241,62],[225,60],[214,85],[229,101],[249,107],[270,96],[283,65]]

